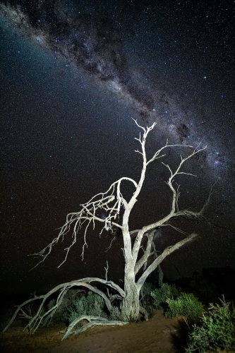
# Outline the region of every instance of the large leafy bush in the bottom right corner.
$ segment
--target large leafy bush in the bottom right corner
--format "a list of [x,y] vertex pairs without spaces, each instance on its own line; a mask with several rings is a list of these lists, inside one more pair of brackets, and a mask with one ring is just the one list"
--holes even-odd
[[210,304],[210,310],[203,313],[200,327],[194,325],[189,335],[186,353],[204,353],[207,350],[231,349],[235,343],[235,307],[230,309],[224,296],[222,305]]

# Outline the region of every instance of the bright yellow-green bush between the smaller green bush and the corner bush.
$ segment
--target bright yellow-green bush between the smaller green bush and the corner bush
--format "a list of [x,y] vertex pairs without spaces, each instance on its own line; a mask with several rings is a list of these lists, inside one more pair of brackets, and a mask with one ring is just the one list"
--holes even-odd
[[203,314],[203,304],[194,297],[193,293],[181,293],[177,299],[167,299],[169,309],[165,316],[174,318],[176,316],[187,316],[195,321]]

